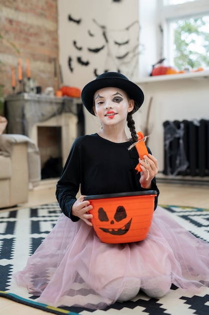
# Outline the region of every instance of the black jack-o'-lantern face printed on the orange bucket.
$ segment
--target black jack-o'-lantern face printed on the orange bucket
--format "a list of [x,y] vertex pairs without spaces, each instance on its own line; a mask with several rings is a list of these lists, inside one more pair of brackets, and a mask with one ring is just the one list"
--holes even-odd
[[[123,221],[124,219],[126,219],[126,217],[127,217],[127,214],[126,214],[125,208],[123,206],[118,206],[116,209],[116,212],[114,214],[114,219],[112,219],[110,221],[111,227],[110,228],[99,227],[99,228],[103,232],[106,232],[106,233],[110,233],[113,235],[123,235],[123,234],[128,232],[128,230],[131,226],[132,218],[120,227],[115,228],[114,224],[116,222],[118,223],[118,222]],[[109,222],[108,215],[102,207],[100,207],[98,209],[98,218],[101,222]],[[121,224],[122,224],[122,222],[121,222]]]

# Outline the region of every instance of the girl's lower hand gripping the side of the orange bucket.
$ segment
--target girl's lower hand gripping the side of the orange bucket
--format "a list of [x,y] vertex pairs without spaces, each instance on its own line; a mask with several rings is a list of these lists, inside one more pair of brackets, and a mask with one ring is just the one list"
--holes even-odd
[[93,218],[93,214],[88,213],[89,210],[93,209],[89,200],[84,200],[84,196],[80,196],[72,206],[72,214],[78,216],[84,220],[86,224],[92,226],[90,219]]

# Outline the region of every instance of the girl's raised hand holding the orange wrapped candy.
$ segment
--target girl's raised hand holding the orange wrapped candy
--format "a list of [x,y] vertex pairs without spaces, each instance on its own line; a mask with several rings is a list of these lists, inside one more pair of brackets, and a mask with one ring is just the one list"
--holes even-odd
[[148,156],[144,155],[144,160],[139,159],[139,163],[142,169],[139,182],[142,188],[149,189],[151,188],[151,181],[158,173],[159,167],[157,160],[150,153],[148,154]]

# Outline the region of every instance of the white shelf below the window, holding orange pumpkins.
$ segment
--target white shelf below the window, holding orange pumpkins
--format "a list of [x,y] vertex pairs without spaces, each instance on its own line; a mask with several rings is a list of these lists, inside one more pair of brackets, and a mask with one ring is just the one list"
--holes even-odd
[[148,83],[163,82],[163,81],[165,82],[165,81],[175,81],[175,80],[197,80],[197,79],[204,79],[204,78],[209,78],[209,70],[141,77],[138,80],[136,80],[135,83],[148,84]]

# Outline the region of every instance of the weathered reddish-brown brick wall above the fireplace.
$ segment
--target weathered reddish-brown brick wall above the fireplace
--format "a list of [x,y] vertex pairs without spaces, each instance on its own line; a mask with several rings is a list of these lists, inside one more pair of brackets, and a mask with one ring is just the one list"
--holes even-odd
[[[0,0],[0,34],[16,45],[20,54],[0,39],[0,84],[4,94],[12,93],[11,66],[15,66],[16,92],[18,84],[18,59],[22,59],[23,77],[27,76],[26,59],[30,61],[31,77],[44,91],[47,87],[58,89],[54,78],[54,58],[58,64],[57,0]],[[57,73],[59,75],[59,67]]]

